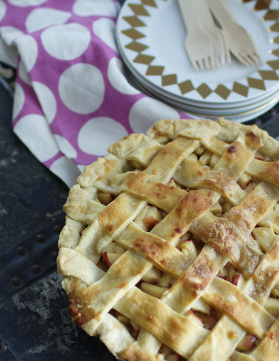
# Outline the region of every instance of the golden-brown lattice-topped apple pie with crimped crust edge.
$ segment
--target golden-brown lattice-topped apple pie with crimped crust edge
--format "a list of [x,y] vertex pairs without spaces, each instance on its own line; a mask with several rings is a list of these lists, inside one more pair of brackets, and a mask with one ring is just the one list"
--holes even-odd
[[123,360],[279,359],[278,155],[223,118],[112,145],[64,206],[73,320]]

